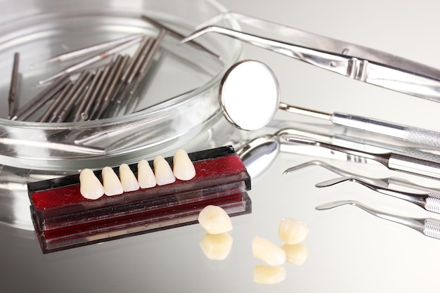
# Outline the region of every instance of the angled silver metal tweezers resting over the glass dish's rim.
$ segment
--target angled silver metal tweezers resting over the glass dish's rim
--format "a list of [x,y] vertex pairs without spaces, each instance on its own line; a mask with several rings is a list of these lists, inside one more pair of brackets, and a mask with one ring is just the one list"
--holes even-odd
[[[224,19],[278,34],[284,40],[214,25]],[[198,27],[181,44],[207,32],[225,34],[361,82],[440,103],[440,70],[406,58],[235,12],[216,15]]]

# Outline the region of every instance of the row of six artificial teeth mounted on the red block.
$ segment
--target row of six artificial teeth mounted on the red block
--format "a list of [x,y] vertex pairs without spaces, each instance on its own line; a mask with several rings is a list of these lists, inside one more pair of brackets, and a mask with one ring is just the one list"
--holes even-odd
[[119,195],[124,192],[138,190],[139,188],[153,188],[157,185],[174,183],[176,178],[188,181],[195,176],[193,162],[185,150],[176,150],[173,157],[173,169],[164,157],[157,155],[153,160],[153,169],[147,160],[138,162],[137,178],[129,165],[119,166],[119,178],[110,167],[104,167],[101,171],[103,183],[99,181],[91,169],[83,169],[79,174],[79,190],[81,195],[89,200],[97,200],[105,195]]

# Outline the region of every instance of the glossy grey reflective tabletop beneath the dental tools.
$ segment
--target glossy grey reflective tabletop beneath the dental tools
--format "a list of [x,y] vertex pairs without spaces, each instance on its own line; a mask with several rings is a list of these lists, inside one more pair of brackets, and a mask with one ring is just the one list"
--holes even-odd
[[[0,6],[1,1],[0,0]],[[285,23],[337,39],[372,46],[440,67],[440,4],[436,1],[233,1],[232,11]],[[277,54],[245,47],[245,57],[276,72],[286,103],[349,112],[440,131],[440,105],[354,82]],[[277,119],[316,122],[278,111]],[[261,129],[253,138],[273,134]],[[222,134],[227,135],[227,134]],[[289,167],[318,157],[280,152],[265,174],[252,181],[252,214],[233,218],[233,248],[225,261],[209,261],[199,241],[205,232],[187,226],[43,255],[31,231],[0,226],[1,292],[438,292],[440,240],[372,216],[356,207],[317,211],[319,204],[358,200],[374,209],[410,218],[437,218],[408,202],[361,185],[316,188],[335,178],[332,171],[309,167],[283,175]],[[439,181],[400,174],[378,165],[325,162],[361,176],[399,176],[439,188]],[[309,258],[303,266],[285,265],[278,285],[252,282],[261,261],[251,252],[252,237],[280,244],[278,223],[292,216],[309,223],[304,240]]]

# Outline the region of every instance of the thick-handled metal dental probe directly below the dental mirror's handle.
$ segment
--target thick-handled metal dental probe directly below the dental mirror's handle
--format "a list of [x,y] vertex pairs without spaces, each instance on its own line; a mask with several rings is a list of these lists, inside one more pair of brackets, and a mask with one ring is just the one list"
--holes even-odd
[[337,152],[345,152],[351,155],[356,155],[358,157],[373,159],[376,162],[380,162],[380,164],[383,164],[385,167],[388,167],[390,170],[403,171],[413,175],[440,179],[440,162],[428,161],[426,159],[400,155],[393,152],[387,152],[384,154],[364,152],[351,148],[340,147],[338,145],[331,145],[330,143],[322,143],[320,141],[311,141],[309,139],[297,138],[295,136],[290,136],[287,134],[281,136],[281,138],[290,143],[316,145],[323,148],[328,148],[330,150],[335,150]]

